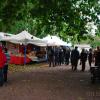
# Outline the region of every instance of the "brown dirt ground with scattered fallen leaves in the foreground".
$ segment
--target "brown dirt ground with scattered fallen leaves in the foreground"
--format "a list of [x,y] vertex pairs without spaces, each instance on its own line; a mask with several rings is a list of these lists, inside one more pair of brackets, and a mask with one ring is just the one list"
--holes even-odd
[[[91,74],[73,72],[71,66],[47,64],[12,65],[8,83],[0,87],[0,100],[100,100],[100,82],[91,84]],[[13,70],[14,69],[14,70]]]

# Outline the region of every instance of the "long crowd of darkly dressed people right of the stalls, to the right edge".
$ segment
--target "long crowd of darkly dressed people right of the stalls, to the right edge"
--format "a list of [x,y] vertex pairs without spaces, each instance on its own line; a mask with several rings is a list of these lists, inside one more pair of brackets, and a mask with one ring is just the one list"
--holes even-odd
[[82,66],[81,70],[85,71],[86,62],[88,61],[90,69],[91,64],[99,66],[100,63],[100,47],[97,49],[90,48],[89,51],[82,48],[82,51],[78,51],[78,47],[74,49],[63,48],[63,47],[48,47],[48,63],[49,67],[60,66],[62,64],[69,65],[71,63],[72,70],[77,70],[78,62]]

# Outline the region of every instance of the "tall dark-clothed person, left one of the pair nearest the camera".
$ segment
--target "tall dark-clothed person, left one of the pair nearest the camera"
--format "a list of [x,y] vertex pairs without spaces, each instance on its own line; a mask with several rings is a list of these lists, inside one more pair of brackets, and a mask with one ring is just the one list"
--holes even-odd
[[78,47],[76,46],[75,49],[71,51],[71,65],[72,65],[72,70],[77,70],[77,64],[79,60],[79,51]]

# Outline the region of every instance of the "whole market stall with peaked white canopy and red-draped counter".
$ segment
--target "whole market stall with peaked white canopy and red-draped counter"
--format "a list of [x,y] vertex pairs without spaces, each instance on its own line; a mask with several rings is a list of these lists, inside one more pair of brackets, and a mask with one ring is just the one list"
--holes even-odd
[[3,40],[10,43],[10,47],[7,48],[10,48],[10,63],[14,64],[26,64],[30,61],[38,61],[38,58],[40,57],[36,56],[37,53],[35,49],[33,50],[34,46],[46,46],[46,43],[43,40],[32,36],[27,31],[22,31],[17,35],[13,35],[9,38],[4,38]]

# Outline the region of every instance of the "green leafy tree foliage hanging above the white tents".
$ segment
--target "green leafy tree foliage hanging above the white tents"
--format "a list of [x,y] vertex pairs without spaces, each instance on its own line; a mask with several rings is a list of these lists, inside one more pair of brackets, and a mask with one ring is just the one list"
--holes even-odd
[[86,39],[88,22],[100,29],[99,9],[99,0],[0,0],[0,31],[28,30],[39,37],[57,34],[79,42]]

